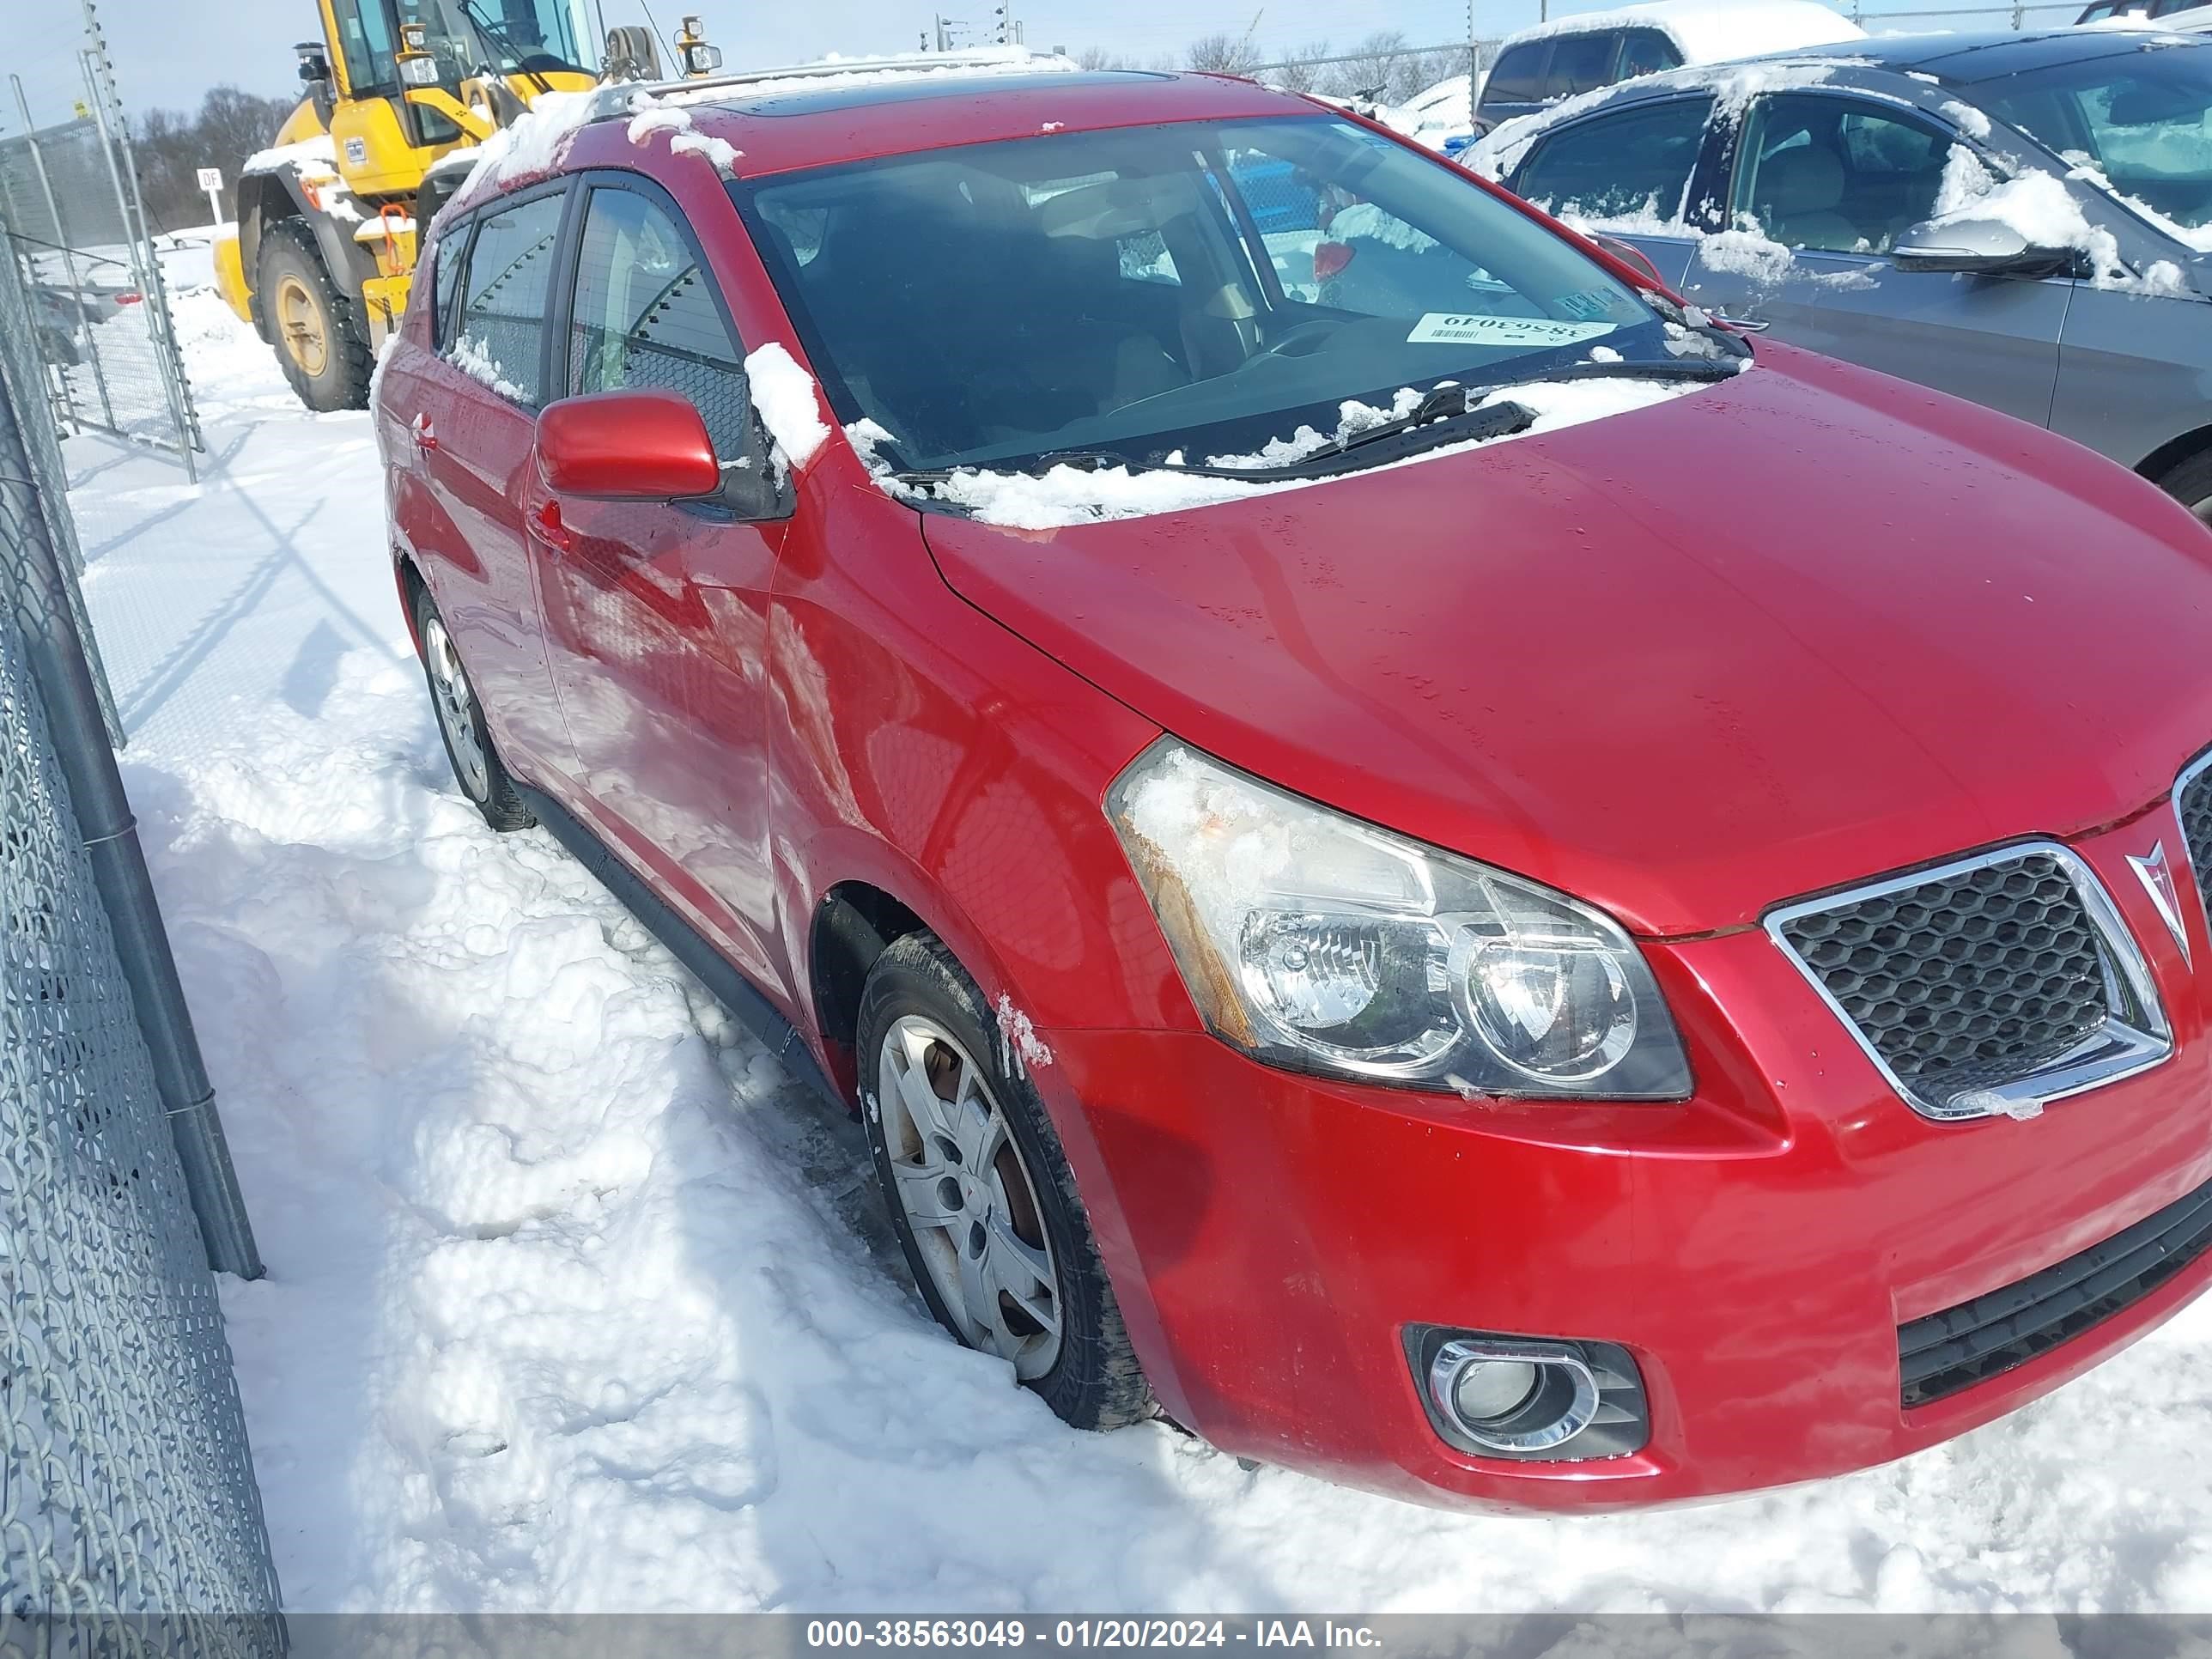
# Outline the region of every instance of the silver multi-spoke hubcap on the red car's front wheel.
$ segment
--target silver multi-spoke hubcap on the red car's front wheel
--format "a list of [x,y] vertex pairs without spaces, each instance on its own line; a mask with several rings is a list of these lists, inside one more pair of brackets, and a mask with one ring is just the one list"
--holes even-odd
[[1024,1383],[1060,1358],[1060,1274],[1037,1188],[982,1068],[936,1020],[909,1013],[876,1062],[891,1197],[938,1301],[969,1347]]

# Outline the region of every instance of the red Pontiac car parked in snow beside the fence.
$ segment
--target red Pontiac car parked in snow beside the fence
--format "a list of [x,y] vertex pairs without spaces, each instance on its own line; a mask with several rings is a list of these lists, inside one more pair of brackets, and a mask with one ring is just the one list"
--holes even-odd
[[1650,1504],[2205,1285],[2159,491],[1245,82],[617,97],[380,372],[453,770],[856,1104],[1062,1418]]

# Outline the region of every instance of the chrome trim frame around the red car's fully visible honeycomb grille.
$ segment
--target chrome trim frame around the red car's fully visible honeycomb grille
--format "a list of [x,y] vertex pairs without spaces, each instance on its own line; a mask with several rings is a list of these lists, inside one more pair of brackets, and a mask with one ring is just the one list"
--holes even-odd
[[[1790,922],[1807,916],[1847,911],[1865,905],[1867,900],[1907,894],[1916,887],[1933,887],[1978,869],[2022,863],[2035,856],[2051,858],[2066,874],[2075,898],[2090,922],[2106,978],[2104,1022],[2064,1051],[2035,1064],[2033,1071],[1971,1091],[1975,1095],[1975,1104],[1960,1106],[1958,1102],[1927,1099],[1898,1075],[1869,1033],[1860,1029],[1843,1002],[1829,991],[1820,971],[1798,953],[1785,929]],[[2119,907],[2097,878],[2097,872],[2093,872],[2079,854],[2057,841],[2017,841],[1969,858],[1953,858],[1949,863],[1913,869],[1902,876],[1887,876],[1860,887],[1820,894],[1818,898],[1798,900],[1794,905],[1781,905],[1767,911],[1763,927],[1776,949],[1781,949],[1790,964],[1796,967],[1796,971],[1814,989],[1814,995],[1818,995],[1820,1002],[1827,1004],[1827,1011],[1836,1015],[1836,1022],[1851,1033],[1860,1053],[1874,1062],[1876,1071],[1896,1091],[1898,1099],[1922,1117],[1936,1121],[1966,1121],[2000,1115],[2033,1117],[2055,1099],[2066,1099],[2068,1095],[2079,1095],[2088,1088],[2119,1082],[2121,1077],[2135,1077],[2137,1073],[2166,1062],[2174,1053],[2172,1024],[2166,1018],[2166,1006],[2159,1002],[2150,967],[2143,960],[2135,936],[2128,931]],[[2137,1018],[2130,1022],[2121,1018],[2121,1011],[2135,1013]]]

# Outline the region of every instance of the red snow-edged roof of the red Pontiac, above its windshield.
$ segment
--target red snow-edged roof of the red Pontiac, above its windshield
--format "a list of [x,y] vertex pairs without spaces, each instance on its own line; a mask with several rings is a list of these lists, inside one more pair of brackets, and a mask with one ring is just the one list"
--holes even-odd
[[1157,71],[902,73],[858,71],[677,91],[668,102],[743,153],[743,177],[909,155],[953,144],[1159,122],[1318,115],[1245,80]]

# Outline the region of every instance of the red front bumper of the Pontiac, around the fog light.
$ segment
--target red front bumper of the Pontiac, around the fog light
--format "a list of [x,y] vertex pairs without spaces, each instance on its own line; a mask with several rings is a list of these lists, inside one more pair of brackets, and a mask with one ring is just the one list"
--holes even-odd
[[[1900,1325],[2212,1179],[2208,1000],[2124,865],[2159,834],[2179,843],[2166,807],[2075,847],[2150,960],[2174,1055],[2031,1121],[1911,1113],[1759,931],[1650,949],[1699,1084],[1681,1106],[1363,1088],[1157,1031],[1055,1031],[1037,1084],[1082,1121],[1079,1172],[1104,1183],[1102,1248],[1166,1409],[1225,1451],[1509,1509],[1843,1473],[2046,1394],[2212,1281],[2205,1256],[2015,1369],[1900,1400]],[[2185,909],[2212,962],[2194,894]],[[1405,1358],[1420,1323],[1628,1347],[1646,1449],[1453,1451]]]

